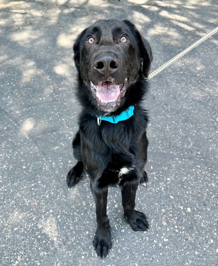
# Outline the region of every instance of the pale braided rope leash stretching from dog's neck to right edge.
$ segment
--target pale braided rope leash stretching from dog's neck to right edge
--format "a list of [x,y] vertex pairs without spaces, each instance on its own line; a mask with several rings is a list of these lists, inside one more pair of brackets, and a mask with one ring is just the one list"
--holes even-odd
[[205,36],[203,36],[197,42],[194,42],[188,48],[186,48],[185,50],[183,50],[182,52],[180,52],[177,56],[174,56],[168,62],[166,62],[165,64],[163,64],[163,66],[160,66],[158,69],[156,69],[154,72],[152,72],[147,77],[146,80],[149,80],[149,79],[153,78],[154,76],[156,76],[158,73],[160,73],[161,71],[163,71],[163,69],[165,69],[168,66],[170,66],[171,64],[173,64],[176,60],[180,59],[182,56],[184,56],[185,54],[187,54],[189,51],[191,51],[193,48],[195,48],[196,46],[198,46],[200,43],[202,43],[203,41],[205,41],[206,39],[208,39],[210,36],[212,36],[216,32],[218,32],[218,27],[216,27],[215,29],[213,29],[211,32],[207,33]]

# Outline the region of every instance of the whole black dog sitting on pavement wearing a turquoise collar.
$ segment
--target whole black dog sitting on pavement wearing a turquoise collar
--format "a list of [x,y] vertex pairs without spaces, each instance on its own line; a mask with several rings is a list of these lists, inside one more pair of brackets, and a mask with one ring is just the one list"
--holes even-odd
[[78,36],[74,61],[82,112],[73,141],[78,163],[68,172],[67,184],[74,186],[83,168],[89,174],[97,215],[93,245],[104,257],[112,245],[108,186],[121,187],[124,217],[132,229],[148,228],[146,216],[134,207],[139,183],[147,183],[148,117],[140,103],[152,52],[128,20],[99,20]]

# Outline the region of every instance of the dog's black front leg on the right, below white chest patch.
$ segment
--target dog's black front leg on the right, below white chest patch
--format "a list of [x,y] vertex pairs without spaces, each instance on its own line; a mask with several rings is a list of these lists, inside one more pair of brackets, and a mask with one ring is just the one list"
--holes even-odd
[[138,183],[126,183],[121,188],[124,217],[134,231],[148,229],[147,217],[144,213],[134,209]]

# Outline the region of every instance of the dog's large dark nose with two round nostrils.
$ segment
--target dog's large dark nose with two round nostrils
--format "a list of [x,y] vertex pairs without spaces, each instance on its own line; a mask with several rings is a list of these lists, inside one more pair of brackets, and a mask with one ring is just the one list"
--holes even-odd
[[109,76],[113,74],[119,66],[119,61],[115,56],[112,55],[104,55],[98,57],[94,61],[94,68],[101,74],[105,76]]

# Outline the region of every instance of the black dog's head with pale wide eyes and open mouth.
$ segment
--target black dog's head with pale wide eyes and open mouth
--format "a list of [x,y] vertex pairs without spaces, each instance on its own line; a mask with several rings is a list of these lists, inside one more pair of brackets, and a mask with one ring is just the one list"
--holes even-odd
[[131,22],[99,20],[78,36],[74,61],[91,105],[111,113],[132,97],[142,75],[148,76],[152,53]]

